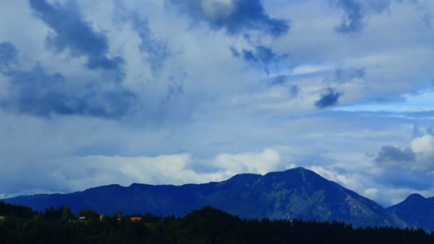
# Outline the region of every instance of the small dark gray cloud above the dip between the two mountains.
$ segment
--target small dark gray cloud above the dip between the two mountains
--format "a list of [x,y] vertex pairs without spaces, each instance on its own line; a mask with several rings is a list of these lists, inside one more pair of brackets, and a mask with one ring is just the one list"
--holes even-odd
[[382,146],[375,162],[377,163],[403,163],[415,161],[415,153],[411,148],[401,149],[396,146]]

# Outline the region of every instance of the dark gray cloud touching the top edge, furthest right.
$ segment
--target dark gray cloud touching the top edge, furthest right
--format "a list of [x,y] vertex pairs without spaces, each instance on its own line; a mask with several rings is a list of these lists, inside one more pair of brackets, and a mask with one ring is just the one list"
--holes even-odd
[[390,5],[390,0],[335,0],[333,3],[344,11],[340,24],[335,26],[335,31],[354,34],[365,27],[365,15],[368,12],[383,12]]

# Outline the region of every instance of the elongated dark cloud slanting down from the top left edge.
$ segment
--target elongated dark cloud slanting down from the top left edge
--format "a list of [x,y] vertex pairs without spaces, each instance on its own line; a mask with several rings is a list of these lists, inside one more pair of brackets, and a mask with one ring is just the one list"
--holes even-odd
[[46,38],[46,45],[56,52],[69,50],[73,56],[86,56],[86,67],[116,71],[122,77],[123,59],[109,58],[109,41],[84,21],[76,6],[49,4],[45,0],[29,0],[31,9],[53,31]]

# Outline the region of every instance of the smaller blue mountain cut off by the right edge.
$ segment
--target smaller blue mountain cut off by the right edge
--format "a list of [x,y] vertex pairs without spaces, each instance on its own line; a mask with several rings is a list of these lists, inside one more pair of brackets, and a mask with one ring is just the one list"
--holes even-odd
[[404,220],[409,227],[434,230],[434,198],[412,194],[388,210]]

